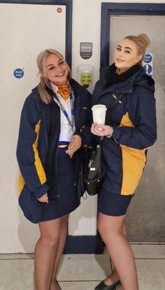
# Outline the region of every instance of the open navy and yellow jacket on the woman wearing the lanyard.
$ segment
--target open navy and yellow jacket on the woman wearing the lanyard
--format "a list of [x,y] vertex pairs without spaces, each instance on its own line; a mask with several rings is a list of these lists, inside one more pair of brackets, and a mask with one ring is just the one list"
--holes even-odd
[[[71,79],[75,102],[76,134],[82,138],[82,146],[89,144],[90,132],[90,97],[85,88]],[[52,90],[47,89],[50,95]],[[53,118],[52,118],[53,116]],[[50,120],[51,118],[51,120]],[[55,132],[51,145],[48,144],[50,123]],[[56,102],[45,104],[34,88],[24,102],[20,118],[20,131],[17,141],[17,161],[20,167],[19,191],[24,188],[31,192],[35,198],[40,198],[51,187],[57,186],[57,150],[60,134],[60,109]],[[78,198],[81,195],[80,188],[80,163],[82,149],[73,154],[75,160],[75,183],[78,189]],[[53,180],[53,181],[52,181]]]

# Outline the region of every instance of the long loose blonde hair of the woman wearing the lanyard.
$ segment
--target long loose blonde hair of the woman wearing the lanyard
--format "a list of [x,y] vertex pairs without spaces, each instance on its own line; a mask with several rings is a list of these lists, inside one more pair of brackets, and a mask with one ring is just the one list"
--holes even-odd
[[69,74],[67,77],[70,78],[71,76],[71,69],[69,65],[64,60],[63,55],[61,55],[61,53],[59,53],[57,50],[48,48],[48,49],[43,50],[41,53],[39,53],[36,59],[36,63],[38,66],[38,74],[41,74],[40,83],[38,83],[38,92],[41,96],[42,101],[45,102],[45,104],[49,104],[51,102],[51,97],[48,94],[48,92],[45,90],[45,86],[47,86],[48,88],[52,88],[50,85],[50,81],[48,80],[48,76],[46,74],[46,59],[48,55],[50,55],[51,53],[57,55],[63,60],[63,62],[66,64],[66,66],[69,69]]

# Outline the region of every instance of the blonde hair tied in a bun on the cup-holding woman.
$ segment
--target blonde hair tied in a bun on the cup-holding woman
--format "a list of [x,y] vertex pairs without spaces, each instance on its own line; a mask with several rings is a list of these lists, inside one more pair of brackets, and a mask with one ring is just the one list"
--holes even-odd
[[134,43],[136,43],[138,55],[143,55],[138,64],[142,64],[143,58],[145,57],[145,50],[150,45],[150,39],[148,35],[147,34],[139,34],[138,36],[129,35],[125,36],[124,39],[129,39],[131,41],[134,41]]

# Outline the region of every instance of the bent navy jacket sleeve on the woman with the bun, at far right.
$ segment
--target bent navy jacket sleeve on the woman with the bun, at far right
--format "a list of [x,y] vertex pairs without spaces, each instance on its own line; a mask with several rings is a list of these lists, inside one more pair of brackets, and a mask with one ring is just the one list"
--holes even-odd
[[[133,95],[134,100],[134,95]],[[129,104],[129,118],[134,127],[114,127],[113,139],[119,144],[135,149],[146,149],[157,139],[155,97],[143,90],[136,102]]]

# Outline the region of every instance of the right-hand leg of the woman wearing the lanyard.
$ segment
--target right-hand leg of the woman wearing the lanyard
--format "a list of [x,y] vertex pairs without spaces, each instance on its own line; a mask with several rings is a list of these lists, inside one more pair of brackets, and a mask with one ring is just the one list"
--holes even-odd
[[62,254],[64,251],[64,246],[66,242],[66,235],[67,235],[67,228],[68,228],[68,219],[69,214],[66,216],[62,216],[61,218],[61,228],[60,228],[60,235],[59,235],[59,247],[57,249],[57,254],[55,256],[55,264],[52,272],[52,278],[51,278],[51,284],[50,284],[50,290],[59,290],[59,286],[56,282],[57,277],[57,270],[59,268],[59,262],[62,258]]

